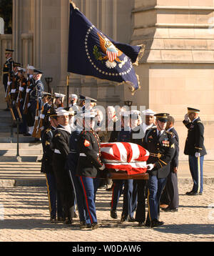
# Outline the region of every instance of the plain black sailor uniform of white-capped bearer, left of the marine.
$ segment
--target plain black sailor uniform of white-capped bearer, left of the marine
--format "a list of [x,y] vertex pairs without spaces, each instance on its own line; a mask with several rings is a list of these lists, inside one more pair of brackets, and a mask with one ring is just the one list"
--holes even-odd
[[72,222],[74,213],[74,192],[71,179],[66,169],[66,159],[69,153],[69,137],[71,131],[68,131],[66,127],[60,124],[56,127],[53,137],[53,167],[56,177],[56,188],[61,197],[61,204],[63,207],[63,214],[66,218],[66,222],[69,224]]

